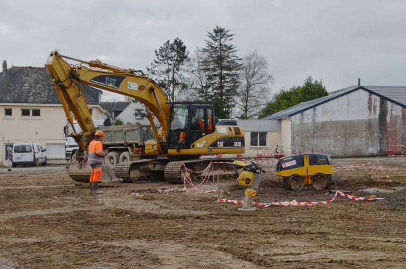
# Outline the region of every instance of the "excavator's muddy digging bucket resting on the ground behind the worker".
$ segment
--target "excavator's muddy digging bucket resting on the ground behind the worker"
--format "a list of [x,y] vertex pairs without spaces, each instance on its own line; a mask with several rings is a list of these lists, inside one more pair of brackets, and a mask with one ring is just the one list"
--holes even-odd
[[[72,161],[69,163],[68,167],[68,174],[70,178],[77,182],[89,182],[90,181],[90,164],[87,163],[87,161],[84,161],[84,159],[79,159],[76,160],[76,155],[72,157]],[[104,162],[101,164],[101,183],[108,183],[111,181],[118,181],[119,178],[117,178],[114,175],[114,171],[109,168],[109,165],[106,165],[108,163],[107,155],[104,156]]]

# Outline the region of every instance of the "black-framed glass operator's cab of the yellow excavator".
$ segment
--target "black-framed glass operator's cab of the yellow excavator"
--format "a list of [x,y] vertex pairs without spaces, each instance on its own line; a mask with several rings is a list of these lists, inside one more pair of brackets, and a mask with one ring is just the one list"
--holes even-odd
[[169,148],[191,149],[200,138],[213,133],[214,108],[211,104],[173,103],[169,120]]

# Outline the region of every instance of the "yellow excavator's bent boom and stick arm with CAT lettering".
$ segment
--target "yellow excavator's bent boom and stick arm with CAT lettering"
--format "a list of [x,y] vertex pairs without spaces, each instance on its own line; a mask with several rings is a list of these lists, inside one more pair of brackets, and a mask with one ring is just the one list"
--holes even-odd
[[[70,64],[65,59],[77,61],[78,64]],[[86,62],[60,55],[57,51],[51,52],[46,66],[51,73],[52,83],[56,88],[67,121],[73,126],[72,122],[76,119],[87,141],[90,142],[93,139],[95,126],[92,121],[92,109],[88,107],[83,94],[84,85],[140,101],[148,110],[147,117],[151,122],[155,139],[157,141],[166,139],[167,119],[170,113],[168,98],[157,83],[142,71],[115,67],[102,63],[100,60]],[[150,111],[161,124],[162,134],[158,134]],[[74,134],[79,147],[85,150],[87,142],[83,136]]]

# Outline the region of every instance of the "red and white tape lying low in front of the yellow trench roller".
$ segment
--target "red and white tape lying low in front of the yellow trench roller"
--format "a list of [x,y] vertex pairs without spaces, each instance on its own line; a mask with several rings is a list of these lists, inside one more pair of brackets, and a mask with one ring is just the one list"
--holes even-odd
[[[354,201],[360,201],[360,200],[380,200],[380,199],[385,199],[383,198],[364,198],[364,197],[357,197],[357,196],[352,196],[346,193],[343,193],[341,191],[336,191],[334,194],[334,197],[329,200],[329,201],[319,201],[319,202],[297,202],[296,200],[293,201],[285,201],[285,202],[273,202],[273,203],[262,203],[262,202],[253,202],[253,206],[256,206],[258,208],[267,208],[270,206],[314,206],[314,205],[323,205],[323,204],[330,204],[333,202],[337,195],[344,196],[346,198],[352,199]],[[236,205],[242,205],[244,204],[244,201],[239,201],[239,200],[229,200],[229,199],[218,199],[218,202],[227,202],[231,204],[236,204]]]

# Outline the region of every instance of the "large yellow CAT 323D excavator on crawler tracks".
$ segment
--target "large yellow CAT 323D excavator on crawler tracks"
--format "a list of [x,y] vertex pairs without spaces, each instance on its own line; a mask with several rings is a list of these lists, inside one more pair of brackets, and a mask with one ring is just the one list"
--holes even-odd
[[[69,176],[75,181],[89,182],[87,147],[96,132],[92,109],[83,94],[85,85],[125,95],[144,104],[155,137],[146,141],[138,160],[120,162],[114,170],[103,164],[102,183],[155,178],[184,183],[185,175],[192,178],[205,175],[204,169],[210,160],[200,158],[202,155],[245,152],[244,130],[236,121],[224,120],[227,125],[218,123],[210,103],[169,102],[159,85],[141,70],[123,69],[98,59],[83,61],[57,51],[51,52],[46,66],[67,121],[74,126],[76,120],[81,128],[81,132],[74,130],[71,134],[79,146],[68,167]],[[153,115],[160,123],[159,128],[154,124]],[[139,156],[139,152],[134,155]],[[235,176],[238,173],[232,160],[221,159],[211,167],[214,175]]]

